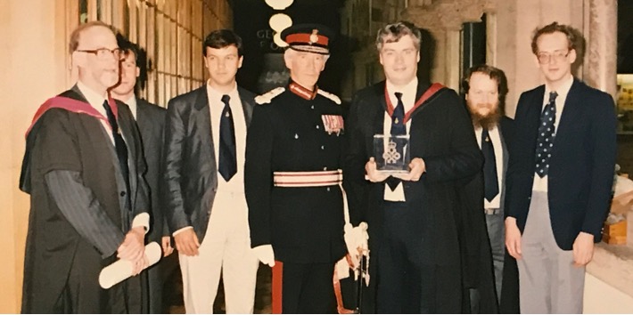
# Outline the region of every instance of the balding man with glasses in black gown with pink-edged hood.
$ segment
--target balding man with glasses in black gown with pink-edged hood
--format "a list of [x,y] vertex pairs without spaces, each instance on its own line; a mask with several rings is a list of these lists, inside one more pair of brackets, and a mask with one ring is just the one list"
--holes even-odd
[[27,132],[21,190],[31,208],[24,313],[146,312],[140,277],[110,289],[99,272],[118,258],[146,266],[149,228],[141,139],[127,106],[108,97],[121,53],[111,28],[89,22],[70,35],[78,83],[46,101]]

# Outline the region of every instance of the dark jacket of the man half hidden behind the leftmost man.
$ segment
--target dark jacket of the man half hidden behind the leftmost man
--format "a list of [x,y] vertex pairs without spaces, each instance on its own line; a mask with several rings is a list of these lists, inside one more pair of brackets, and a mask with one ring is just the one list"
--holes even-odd
[[160,203],[160,171],[164,162],[165,114],[167,111],[143,99],[136,98],[136,124],[143,141],[143,152],[147,164],[145,181],[150,187],[152,221],[147,238],[160,242],[162,236],[168,236],[165,221],[165,209]]

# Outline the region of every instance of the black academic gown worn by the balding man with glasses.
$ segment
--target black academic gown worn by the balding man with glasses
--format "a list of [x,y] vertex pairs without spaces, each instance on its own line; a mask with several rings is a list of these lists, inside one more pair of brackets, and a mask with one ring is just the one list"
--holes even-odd
[[[78,88],[61,96],[86,102]],[[140,137],[126,105],[118,102],[119,127],[123,133],[130,163],[138,175],[130,190],[132,208],[121,211],[116,184],[118,163],[113,146],[100,121],[66,109],[48,109],[37,119],[27,137],[22,162],[21,190],[29,193],[31,207],[27,232],[22,294],[23,313],[52,312],[146,312],[141,299],[141,277],[133,277],[104,290],[99,287],[99,272],[116,261],[116,252],[103,257],[95,246],[62,214],[47,191],[45,174],[63,170],[81,174],[81,181],[102,205],[107,219],[121,227],[125,235],[136,214],[146,211],[146,187],[140,174],[144,161],[139,152]],[[129,212],[129,213],[126,213]],[[70,283],[80,284],[69,287]],[[75,293],[83,299],[78,301]]]

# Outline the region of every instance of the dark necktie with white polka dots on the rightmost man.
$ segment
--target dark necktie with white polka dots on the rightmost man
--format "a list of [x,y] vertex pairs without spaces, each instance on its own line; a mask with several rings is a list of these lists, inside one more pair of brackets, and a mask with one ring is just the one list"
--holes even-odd
[[549,169],[549,158],[552,157],[554,148],[554,123],[556,121],[556,96],[557,93],[549,93],[549,102],[540,114],[540,125],[538,125],[536,172],[538,177],[543,178]]

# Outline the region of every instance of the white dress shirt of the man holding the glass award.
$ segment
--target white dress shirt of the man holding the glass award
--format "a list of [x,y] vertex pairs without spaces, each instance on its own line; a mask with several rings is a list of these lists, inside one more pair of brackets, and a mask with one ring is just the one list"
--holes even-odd
[[[389,80],[386,81],[387,85],[387,93],[389,93],[389,99],[393,108],[395,109],[398,105],[398,98],[396,97],[397,92],[402,93],[402,103],[405,106],[405,114],[409,111],[409,109],[413,109],[415,105],[415,94],[417,93],[417,77],[414,77],[411,82],[409,82],[405,86],[396,87],[392,85]],[[407,121],[407,134],[409,134],[409,129],[411,129],[411,120]],[[383,133],[390,134],[391,133],[391,117],[389,116],[389,112],[384,112],[384,124],[383,124]],[[414,157],[411,157],[414,158]],[[396,186],[395,190],[391,190],[388,185],[384,186],[384,199],[388,201],[405,201],[405,190],[402,186],[402,182]]]

